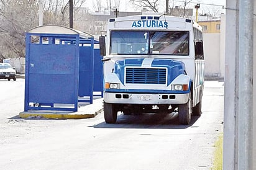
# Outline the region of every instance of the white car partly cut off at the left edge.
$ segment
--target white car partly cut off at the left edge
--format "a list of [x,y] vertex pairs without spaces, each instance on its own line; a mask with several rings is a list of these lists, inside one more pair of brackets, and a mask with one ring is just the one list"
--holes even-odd
[[8,63],[0,63],[0,79],[8,79],[8,81],[13,79],[16,81],[15,69]]

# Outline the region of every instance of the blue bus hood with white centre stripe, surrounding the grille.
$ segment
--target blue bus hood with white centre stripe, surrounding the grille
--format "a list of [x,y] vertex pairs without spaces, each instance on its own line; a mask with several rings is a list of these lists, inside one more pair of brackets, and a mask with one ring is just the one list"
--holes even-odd
[[114,66],[114,73],[117,74],[123,84],[125,68],[167,68],[167,86],[178,75],[185,74],[185,64],[182,61],[155,58],[117,60]]

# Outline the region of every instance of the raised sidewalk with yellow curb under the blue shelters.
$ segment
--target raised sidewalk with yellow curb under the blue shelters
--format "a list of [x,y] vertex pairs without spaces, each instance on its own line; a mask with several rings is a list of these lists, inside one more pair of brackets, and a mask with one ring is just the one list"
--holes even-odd
[[95,117],[103,111],[103,98],[94,99],[93,104],[86,104],[78,107],[77,112],[56,111],[56,110],[29,110],[21,112],[19,117],[43,117],[45,119],[86,119]]

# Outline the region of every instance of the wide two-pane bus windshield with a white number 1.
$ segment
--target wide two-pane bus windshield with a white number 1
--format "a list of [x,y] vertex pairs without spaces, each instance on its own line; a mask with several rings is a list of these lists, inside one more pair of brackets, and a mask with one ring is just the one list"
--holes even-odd
[[188,31],[112,30],[112,55],[189,55]]

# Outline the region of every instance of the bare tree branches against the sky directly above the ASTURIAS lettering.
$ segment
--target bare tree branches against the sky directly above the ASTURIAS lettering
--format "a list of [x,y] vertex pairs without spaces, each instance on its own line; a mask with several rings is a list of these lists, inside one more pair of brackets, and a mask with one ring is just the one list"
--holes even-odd
[[158,6],[160,3],[158,0],[130,0],[130,2],[135,6],[151,9],[153,12],[158,12]]

